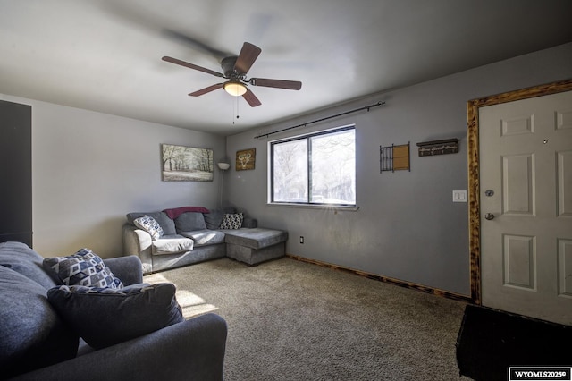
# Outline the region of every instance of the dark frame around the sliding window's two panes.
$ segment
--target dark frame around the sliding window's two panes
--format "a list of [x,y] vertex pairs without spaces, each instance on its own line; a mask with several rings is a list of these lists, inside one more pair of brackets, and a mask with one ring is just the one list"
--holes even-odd
[[[341,127],[334,127],[327,130],[321,131],[314,131],[309,132],[303,135],[292,136],[289,138],[283,138],[280,140],[273,140],[268,142],[268,205],[272,206],[288,206],[288,207],[328,207],[328,208],[340,208],[340,209],[350,209],[350,210],[357,210],[357,199],[354,203],[340,203],[340,204],[332,204],[332,203],[323,203],[323,202],[315,202],[311,201],[311,194],[312,194],[312,150],[310,143],[312,138],[324,136],[324,135],[332,135],[335,133],[343,132],[343,131],[354,131],[354,160],[357,159],[357,149],[356,149],[356,125],[349,124]],[[307,200],[306,201],[275,201],[274,200],[274,146],[288,143],[290,141],[296,140],[307,140]],[[357,185],[357,171],[356,167],[354,166],[354,186]],[[356,190],[357,193],[357,190]],[[356,194],[357,198],[357,194]]]

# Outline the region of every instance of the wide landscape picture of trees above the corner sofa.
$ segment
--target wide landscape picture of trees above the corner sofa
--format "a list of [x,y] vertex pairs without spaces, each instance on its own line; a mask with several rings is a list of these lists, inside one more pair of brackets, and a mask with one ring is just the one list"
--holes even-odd
[[213,150],[161,145],[164,182],[212,182]]

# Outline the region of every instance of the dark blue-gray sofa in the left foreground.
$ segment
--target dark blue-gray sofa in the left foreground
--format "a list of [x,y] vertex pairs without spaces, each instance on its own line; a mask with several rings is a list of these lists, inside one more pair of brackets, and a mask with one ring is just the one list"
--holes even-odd
[[[174,285],[141,284],[138,257],[97,262],[89,250],[72,257],[79,256],[95,260],[97,275],[103,268],[111,277],[97,287],[80,285],[95,277],[80,275],[82,267],[70,276],[80,284],[62,285],[65,262],[21,242],[0,243],[0,379],[223,379],[223,318],[184,320]],[[147,301],[157,304],[141,305]]]

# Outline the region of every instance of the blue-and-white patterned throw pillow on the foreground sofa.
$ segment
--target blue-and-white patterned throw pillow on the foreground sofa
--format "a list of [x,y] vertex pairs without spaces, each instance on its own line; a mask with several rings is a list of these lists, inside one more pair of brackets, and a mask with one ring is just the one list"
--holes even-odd
[[103,259],[85,248],[68,257],[44,258],[43,266],[65,285],[123,288],[122,281],[105,266]]

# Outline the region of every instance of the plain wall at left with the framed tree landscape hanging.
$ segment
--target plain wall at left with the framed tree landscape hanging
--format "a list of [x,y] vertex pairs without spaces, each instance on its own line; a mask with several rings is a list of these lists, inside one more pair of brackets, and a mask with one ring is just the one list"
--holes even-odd
[[33,242],[45,257],[82,247],[117,257],[126,213],[219,202],[216,173],[213,182],[163,182],[161,144],[213,148],[216,161],[224,156],[222,137],[21,97],[0,99],[32,106]]

